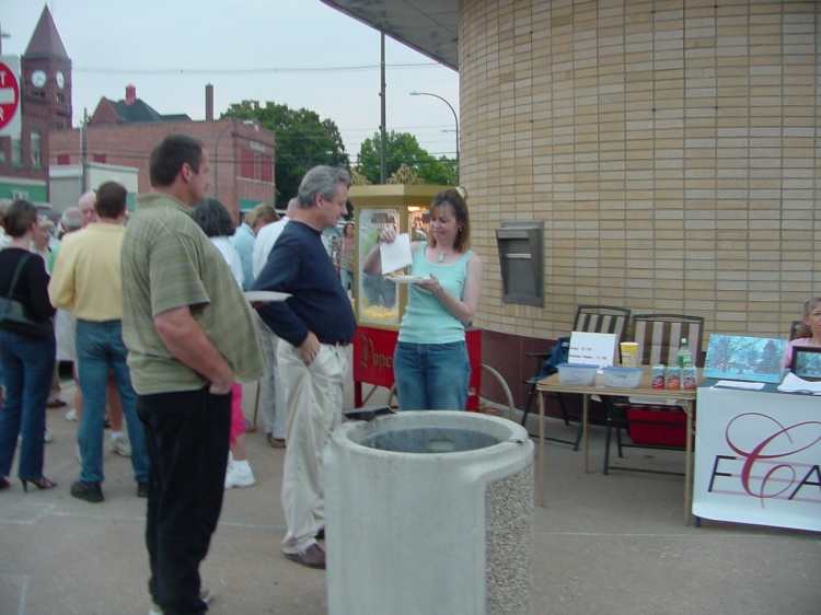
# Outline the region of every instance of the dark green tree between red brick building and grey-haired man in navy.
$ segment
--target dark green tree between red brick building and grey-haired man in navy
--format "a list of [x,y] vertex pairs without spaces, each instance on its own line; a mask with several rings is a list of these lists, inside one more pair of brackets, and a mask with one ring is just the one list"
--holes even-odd
[[333,119],[320,119],[312,111],[258,101],[232,104],[222,117],[256,119],[276,138],[275,182],[277,206],[285,207],[297,194],[305,172],[317,164],[350,167],[345,144]]

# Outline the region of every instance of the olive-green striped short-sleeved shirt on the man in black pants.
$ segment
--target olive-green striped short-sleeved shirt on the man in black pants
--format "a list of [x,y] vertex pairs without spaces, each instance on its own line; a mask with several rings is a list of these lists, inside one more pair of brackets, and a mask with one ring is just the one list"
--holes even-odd
[[238,376],[255,378],[261,358],[250,306],[224,259],[175,199],[150,194],[139,204],[123,242],[123,339],[135,388],[147,395],[206,383],[171,355],[154,326],[158,314],[183,306]]

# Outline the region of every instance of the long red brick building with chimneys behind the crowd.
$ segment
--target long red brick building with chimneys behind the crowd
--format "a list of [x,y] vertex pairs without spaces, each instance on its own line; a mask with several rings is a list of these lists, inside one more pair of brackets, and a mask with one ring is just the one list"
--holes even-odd
[[[160,114],[137,96],[134,85],[126,88],[124,100],[101,98],[86,126],[86,161],[137,167],[139,192],[148,192],[151,150],[173,134],[204,143],[211,166],[211,194],[229,209],[247,210],[274,200],[274,134],[248,120],[215,120],[210,85],[206,86],[204,121],[184,114]],[[53,132],[49,161],[55,165],[81,163],[81,129]]]

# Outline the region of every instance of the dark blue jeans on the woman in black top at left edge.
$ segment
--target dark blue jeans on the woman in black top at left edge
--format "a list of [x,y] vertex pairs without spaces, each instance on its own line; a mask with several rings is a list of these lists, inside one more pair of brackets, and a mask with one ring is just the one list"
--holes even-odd
[[18,436],[20,478],[43,476],[43,433],[46,402],[51,388],[55,361],[54,336],[33,339],[0,330],[0,367],[5,385],[5,403],[0,408],[0,476],[9,476]]

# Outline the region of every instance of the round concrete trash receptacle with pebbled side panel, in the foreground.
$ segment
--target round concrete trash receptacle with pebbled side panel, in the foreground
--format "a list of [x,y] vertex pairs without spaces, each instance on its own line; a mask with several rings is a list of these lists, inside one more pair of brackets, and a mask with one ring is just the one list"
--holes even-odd
[[533,443],[519,425],[407,411],[325,449],[329,615],[527,615]]

